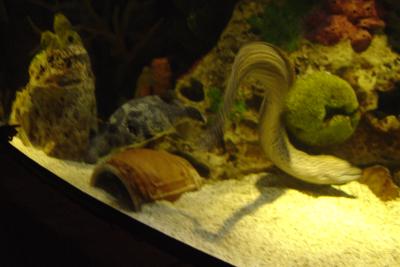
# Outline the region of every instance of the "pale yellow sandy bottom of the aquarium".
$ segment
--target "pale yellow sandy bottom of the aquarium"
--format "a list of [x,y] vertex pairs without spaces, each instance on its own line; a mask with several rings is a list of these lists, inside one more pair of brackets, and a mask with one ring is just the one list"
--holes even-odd
[[278,172],[252,174],[135,213],[89,185],[93,165],[12,144],[85,193],[233,265],[400,266],[400,200],[382,202],[358,182],[307,186]]

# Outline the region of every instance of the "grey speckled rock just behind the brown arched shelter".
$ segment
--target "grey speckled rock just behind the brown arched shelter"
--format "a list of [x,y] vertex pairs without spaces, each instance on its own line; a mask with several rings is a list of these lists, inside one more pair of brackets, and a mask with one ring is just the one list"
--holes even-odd
[[118,108],[101,127],[90,141],[85,160],[96,162],[99,157],[124,146],[142,147],[174,133],[176,126],[189,119],[200,123],[205,120],[195,108],[167,103],[157,95],[134,98]]

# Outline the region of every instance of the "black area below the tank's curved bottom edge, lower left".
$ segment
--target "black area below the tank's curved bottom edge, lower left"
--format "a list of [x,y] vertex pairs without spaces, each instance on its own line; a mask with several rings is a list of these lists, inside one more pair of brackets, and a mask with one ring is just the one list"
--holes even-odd
[[0,266],[225,266],[82,193],[0,140]]

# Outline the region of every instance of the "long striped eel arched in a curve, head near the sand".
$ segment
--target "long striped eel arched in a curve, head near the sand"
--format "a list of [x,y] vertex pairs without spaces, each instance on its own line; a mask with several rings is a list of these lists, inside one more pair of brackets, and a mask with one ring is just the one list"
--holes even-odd
[[290,143],[282,114],[295,75],[286,55],[268,43],[247,44],[236,55],[224,93],[224,104],[214,128],[217,135],[222,133],[240,83],[248,76],[256,77],[265,86],[259,115],[259,138],[265,154],[278,168],[314,184],[342,184],[361,177],[361,169],[343,159],[309,155]]

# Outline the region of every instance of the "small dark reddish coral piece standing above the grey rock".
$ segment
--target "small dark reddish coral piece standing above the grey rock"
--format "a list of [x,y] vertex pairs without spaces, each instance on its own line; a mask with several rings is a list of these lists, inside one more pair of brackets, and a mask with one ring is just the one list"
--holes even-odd
[[172,88],[172,71],[168,58],[155,58],[150,67],[143,68],[136,86],[136,97],[163,96]]

